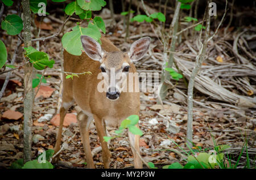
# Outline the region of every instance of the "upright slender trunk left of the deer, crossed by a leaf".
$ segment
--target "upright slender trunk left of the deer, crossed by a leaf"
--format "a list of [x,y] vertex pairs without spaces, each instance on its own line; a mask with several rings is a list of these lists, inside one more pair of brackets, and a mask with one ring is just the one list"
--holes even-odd
[[[30,1],[22,0],[23,7],[23,39],[24,48],[31,46],[31,12]],[[24,58],[24,62],[28,62],[27,58]],[[24,125],[23,125],[23,159],[24,163],[31,160],[31,126],[32,126],[32,104],[34,98],[34,92],[32,89],[32,71],[33,67],[31,63],[25,63],[24,65]]]

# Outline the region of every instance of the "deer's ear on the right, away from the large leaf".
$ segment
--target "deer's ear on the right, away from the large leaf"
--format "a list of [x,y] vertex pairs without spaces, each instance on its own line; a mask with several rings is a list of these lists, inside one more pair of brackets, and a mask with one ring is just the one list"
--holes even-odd
[[131,44],[128,55],[131,61],[138,61],[146,53],[150,45],[150,37],[142,37]]

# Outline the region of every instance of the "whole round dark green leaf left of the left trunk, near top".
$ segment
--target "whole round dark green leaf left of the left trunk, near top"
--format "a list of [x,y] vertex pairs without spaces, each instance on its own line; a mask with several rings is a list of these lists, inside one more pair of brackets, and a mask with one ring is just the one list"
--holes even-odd
[[7,31],[8,35],[18,35],[23,29],[22,19],[15,14],[7,15],[1,23],[2,29]]

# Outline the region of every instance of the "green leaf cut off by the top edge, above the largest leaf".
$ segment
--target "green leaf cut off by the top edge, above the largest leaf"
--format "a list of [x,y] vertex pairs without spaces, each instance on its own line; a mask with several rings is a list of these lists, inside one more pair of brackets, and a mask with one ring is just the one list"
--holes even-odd
[[90,10],[90,11],[100,11],[101,7],[106,6],[106,2],[104,0],[77,0],[77,4],[83,10]]

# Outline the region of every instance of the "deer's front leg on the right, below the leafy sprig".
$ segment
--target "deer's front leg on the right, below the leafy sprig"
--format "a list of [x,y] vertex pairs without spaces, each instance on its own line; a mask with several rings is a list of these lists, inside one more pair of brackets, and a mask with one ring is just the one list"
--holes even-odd
[[[138,125],[136,125],[136,126],[139,128]],[[131,151],[133,151],[133,157],[134,157],[134,160],[133,160],[134,167],[136,169],[142,169],[142,161],[138,155],[138,153],[140,153],[140,151],[139,151],[139,137],[140,136],[134,135],[130,131],[128,131],[128,135],[129,135],[129,140],[130,140],[131,145],[133,145],[133,147],[135,148],[134,149],[133,147],[131,147]]]

